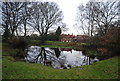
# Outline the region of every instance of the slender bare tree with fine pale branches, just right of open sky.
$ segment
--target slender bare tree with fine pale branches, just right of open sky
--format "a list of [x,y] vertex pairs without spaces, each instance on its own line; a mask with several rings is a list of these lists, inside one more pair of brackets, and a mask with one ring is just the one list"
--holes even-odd
[[78,7],[77,21],[83,33],[93,36],[94,33],[94,11],[93,2],[88,2],[85,6],[81,4]]

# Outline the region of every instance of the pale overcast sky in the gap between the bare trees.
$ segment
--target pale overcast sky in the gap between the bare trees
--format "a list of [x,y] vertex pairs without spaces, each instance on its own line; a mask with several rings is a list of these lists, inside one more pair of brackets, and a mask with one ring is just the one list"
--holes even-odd
[[49,1],[49,2],[56,2],[60,9],[63,12],[64,15],[64,22],[67,24],[67,27],[69,28],[68,31],[64,33],[69,34],[82,34],[83,32],[75,28],[75,17],[77,13],[77,7],[80,4],[85,4],[89,0],[43,0],[43,1]]

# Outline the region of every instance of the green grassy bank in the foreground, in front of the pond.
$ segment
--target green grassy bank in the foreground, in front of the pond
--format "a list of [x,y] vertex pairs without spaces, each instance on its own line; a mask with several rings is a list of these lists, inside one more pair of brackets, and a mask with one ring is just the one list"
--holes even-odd
[[72,69],[53,69],[42,64],[19,62],[10,56],[3,56],[2,77],[3,79],[117,79],[118,59],[120,57]]

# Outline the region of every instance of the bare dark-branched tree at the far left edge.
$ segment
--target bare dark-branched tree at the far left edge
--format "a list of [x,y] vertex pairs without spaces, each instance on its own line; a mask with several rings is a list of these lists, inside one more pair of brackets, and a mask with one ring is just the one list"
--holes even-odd
[[11,37],[15,34],[15,32],[16,35],[18,35],[17,28],[22,22],[22,8],[22,2],[2,3],[2,25],[3,28],[7,27],[10,30]]

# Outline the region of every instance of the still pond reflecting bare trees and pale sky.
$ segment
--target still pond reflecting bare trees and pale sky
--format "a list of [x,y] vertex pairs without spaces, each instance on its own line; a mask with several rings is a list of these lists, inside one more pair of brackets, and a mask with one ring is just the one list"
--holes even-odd
[[70,69],[76,66],[89,65],[99,61],[85,56],[82,51],[69,48],[43,48],[29,47],[25,60],[27,62],[41,63],[57,69]]

